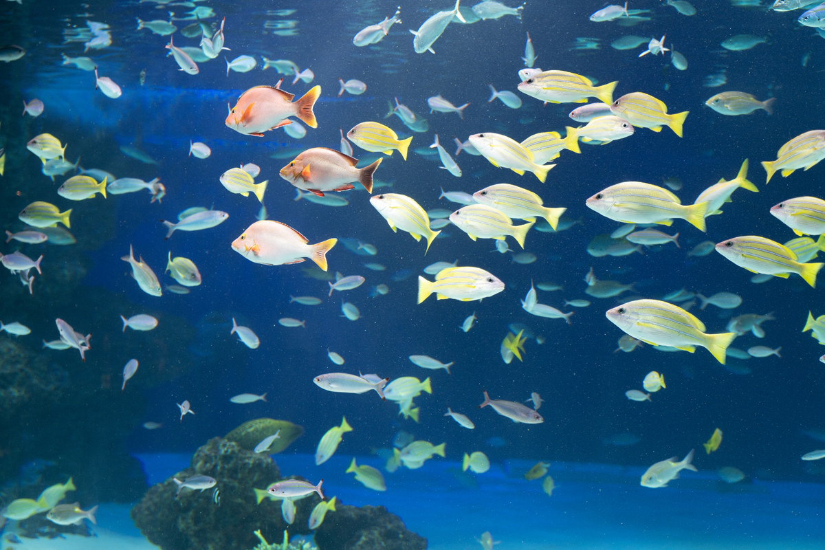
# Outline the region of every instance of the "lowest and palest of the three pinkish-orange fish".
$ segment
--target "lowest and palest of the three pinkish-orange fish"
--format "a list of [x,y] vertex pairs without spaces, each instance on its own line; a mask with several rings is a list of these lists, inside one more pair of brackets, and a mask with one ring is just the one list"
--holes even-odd
[[241,233],[241,236],[232,242],[232,248],[256,264],[281,266],[297,264],[304,261],[304,258],[309,258],[326,271],[327,252],[336,242],[336,238],[331,238],[309,244],[307,237],[285,223],[262,219],[252,223]]

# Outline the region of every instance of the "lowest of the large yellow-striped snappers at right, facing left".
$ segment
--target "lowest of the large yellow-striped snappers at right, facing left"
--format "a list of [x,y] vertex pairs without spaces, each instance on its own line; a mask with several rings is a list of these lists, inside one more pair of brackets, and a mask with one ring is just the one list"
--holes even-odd
[[616,327],[651,346],[671,346],[693,353],[696,346],[707,349],[719,363],[735,332],[705,334],[705,324],[672,303],[662,300],[634,300],[610,309],[607,318]]

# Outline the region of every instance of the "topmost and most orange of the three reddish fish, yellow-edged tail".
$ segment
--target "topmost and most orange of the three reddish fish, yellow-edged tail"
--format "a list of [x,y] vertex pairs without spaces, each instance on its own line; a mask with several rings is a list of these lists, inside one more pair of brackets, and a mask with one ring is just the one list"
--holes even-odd
[[298,101],[289,92],[271,86],[249,88],[238,97],[238,103],[229,111],[226,125],[240,134],[262,136],[266,130],[292,124],[296,116],[310,128],[318,128],[313,107],[321,87],[315,86]]

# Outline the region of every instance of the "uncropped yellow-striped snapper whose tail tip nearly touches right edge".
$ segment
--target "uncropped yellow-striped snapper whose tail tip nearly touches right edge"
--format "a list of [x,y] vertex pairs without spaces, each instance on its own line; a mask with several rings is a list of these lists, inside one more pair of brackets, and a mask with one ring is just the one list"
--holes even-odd
[[817,273],[825,264],[801,264],[794,251],[765,237],[734,237],[716,245],[716,251],[752,273],[764,273],[787,279],[790,273],[816,287]]

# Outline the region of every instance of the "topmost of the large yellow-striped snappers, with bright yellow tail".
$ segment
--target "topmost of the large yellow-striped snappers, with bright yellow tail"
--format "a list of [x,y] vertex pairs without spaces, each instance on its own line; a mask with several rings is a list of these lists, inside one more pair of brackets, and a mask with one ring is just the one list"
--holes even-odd
[[519,92],[548,103],[587,103],[588,97],[596,97],[604,103],[613,102],[613,90],[619,82],[593,86],[593,82],[581,74],[567,71],[544,71],[518,85]]

